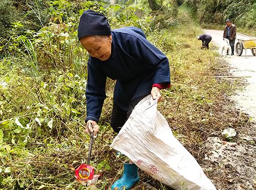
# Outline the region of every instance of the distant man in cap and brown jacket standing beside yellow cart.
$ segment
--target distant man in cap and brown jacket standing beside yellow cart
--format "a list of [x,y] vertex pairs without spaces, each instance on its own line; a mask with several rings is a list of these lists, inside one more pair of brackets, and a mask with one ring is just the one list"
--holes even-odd
[[[231,46],[231,56],[234,55],[234,42],[236,41],[236,37],[237,37],[237,29],[236,29],[236,25],[231,23],[231,20],[227,19],[226,21],[226,26],[224,29],[224,33],[223,33],[223,40],[224,38],[227,38],[229,40],[229,44]],[[228,55],[228,52],[227,52]]]

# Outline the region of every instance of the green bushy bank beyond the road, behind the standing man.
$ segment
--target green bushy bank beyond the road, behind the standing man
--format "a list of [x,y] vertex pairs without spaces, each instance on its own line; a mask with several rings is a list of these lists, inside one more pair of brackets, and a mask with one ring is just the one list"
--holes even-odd
[[256,36],[256,2],[253,0],[181,0],[190,7],[205,29],[223,30],[225,20],[231,19],[237,31]]

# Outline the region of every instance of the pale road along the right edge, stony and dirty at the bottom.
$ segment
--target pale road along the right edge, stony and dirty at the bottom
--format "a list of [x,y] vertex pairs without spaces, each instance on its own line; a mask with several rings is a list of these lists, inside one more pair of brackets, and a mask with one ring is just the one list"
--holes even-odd
[[[205,33],[212,36],[213,43],[221,46],[223,31],[205,30]],[[251,37],[238,34],[237,38]],[[247,50],[246,56],[245,52],[241,57],[236,56],[235,53],[235,56],[227,57],[225,61],[230,64],[232,75],[250,76],[245,78],[247,85],[244,90],[237,91],[237,94],[231,99],[234,100],[240,111],[248,114],[252,120],[256,121],[256,57],[252,55],[250,50]],[[233,142],[225,142],[220,137],[207,139],[202,167],[219,190],[256,189],[255,124],[248,124],[247,122],[239,127],[236,127],[236,124],[233,126],[237,131]]]

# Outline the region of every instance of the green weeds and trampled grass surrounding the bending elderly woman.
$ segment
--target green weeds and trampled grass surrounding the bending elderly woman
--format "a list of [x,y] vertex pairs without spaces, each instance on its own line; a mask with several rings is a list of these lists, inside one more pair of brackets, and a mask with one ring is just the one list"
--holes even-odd
[[[141,28],[168,57],[172,87],[162,91],[159,111],[199,163],[209,135],[221,137],[224,128],[248,122],[227,97],[240,81],[215,77],[228,75],[228,66],[216,58],[214,46],[201,49],[200,26],[189,9],[178,11],[176,1],[162,1],[161,11],[152,11],[147,1],[21,1],[15,8],[8,2],[0,3],[0,11],[6,6],[23,17],[9,15],[3,24],[8,14],[0,15],[1,32],[8,29],[0,38],[0,189],[86,189],[74,170],[86,161],[90,141],[83,133],[89,55],[77,40],[79,16],[89,8],[105,14],[112,29]],[[125,159],[109,147],[116,135],[110,127],[114,84],[107,82],[91,159],[103,176],[94,186],[99,189],[120,177]],[[134,189],[146,183],[164,189],[143,172]]]

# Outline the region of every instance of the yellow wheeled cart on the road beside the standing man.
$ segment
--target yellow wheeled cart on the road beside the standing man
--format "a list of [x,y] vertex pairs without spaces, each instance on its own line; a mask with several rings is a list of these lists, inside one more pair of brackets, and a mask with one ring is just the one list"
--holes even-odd
[[238,56],[241,56],[243,53],[243,49],[245,49],[245,56],[246,56],[246,49],[251,49],[252,55],[256,55],[256,38],[255,39],[238,39],[238,43],[236,45],[236,52]]

